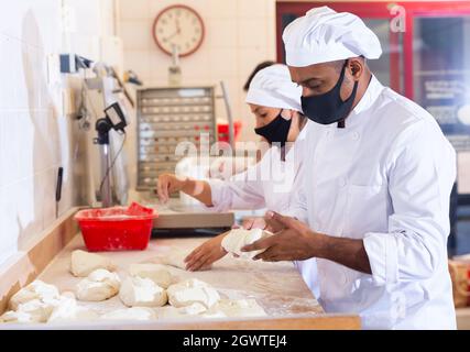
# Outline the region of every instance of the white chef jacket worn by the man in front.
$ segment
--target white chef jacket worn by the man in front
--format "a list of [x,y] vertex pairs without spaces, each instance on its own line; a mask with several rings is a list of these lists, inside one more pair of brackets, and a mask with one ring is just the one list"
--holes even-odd
[[357,312],[365,329],[455,329],[447,237],[456,155],[435,119],[372,77],[345,129],[307,129],[293,213],[314,231],[363,239],[372,270],[317,258],[324,309]]

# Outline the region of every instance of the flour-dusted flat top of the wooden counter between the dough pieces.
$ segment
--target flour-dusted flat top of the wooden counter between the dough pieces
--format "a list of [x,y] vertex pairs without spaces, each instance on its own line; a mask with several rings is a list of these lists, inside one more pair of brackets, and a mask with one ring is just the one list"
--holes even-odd
[[[133,263],[150,263],[173,249],[192,250],[206,239],[162,239],[152,240],[146,251],[103,252],[117,265],[117,273],[124,278]],[[69,273],[70,253],[85,250],[81,235],[77,235],[40,275],[40,279],[56,285],[61,292],[75,290],[80,278]],[[175,280],[196,277],[212,285],[222,298],[254,298],[271,317],[296,314],[316,315],[324,312],[300,275],[291,262],[265,263],[233,258],[227,255],[205,272],[186,272],[170,267]],[[84,302],[100,314],[123,308],[119,297],[101,302]]]

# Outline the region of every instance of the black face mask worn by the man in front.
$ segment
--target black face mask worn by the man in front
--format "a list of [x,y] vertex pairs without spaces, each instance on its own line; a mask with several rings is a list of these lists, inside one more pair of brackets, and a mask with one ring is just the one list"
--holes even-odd
[[356,92],[358,90],[358,81],[354,82],[354,88],[352,89],[351,96],[342,101],[340,90],[342,81],[345,80],[345,72],[347,66],[348,61],[346,61],[345,66],[342,66],[338,82],[331,90],[319,96],[300,98],[302,109],[308,119],[317,123],[330,124],[345,120],[348,117],[356,98]]

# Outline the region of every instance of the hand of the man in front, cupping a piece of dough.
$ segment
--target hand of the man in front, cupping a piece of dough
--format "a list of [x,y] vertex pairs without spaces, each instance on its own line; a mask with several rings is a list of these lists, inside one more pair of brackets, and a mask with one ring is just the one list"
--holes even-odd
[[265,250],[253,260],[266,262],[303,261],[315,256],[315,246],[323,237],[311,231],[307,224],[295,218],[270,212],[272,220],[284,227],[284,230],[241,249],[242,252]]

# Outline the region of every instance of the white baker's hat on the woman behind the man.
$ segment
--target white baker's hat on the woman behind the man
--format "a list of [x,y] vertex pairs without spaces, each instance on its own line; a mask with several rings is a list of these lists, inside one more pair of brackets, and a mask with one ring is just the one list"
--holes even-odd
[[258,106],[302,111],[302,87],[292,81],[285,65],[272,65],[254,75],[245,102]]

